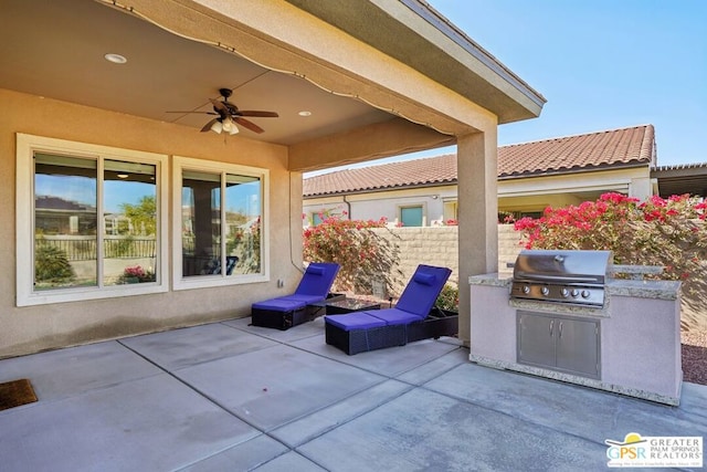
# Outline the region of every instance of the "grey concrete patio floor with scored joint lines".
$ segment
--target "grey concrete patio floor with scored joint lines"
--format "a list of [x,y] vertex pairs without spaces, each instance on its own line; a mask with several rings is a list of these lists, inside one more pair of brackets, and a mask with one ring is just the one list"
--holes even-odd
[[605,439],[707,437],[705,386],[673,408],[477,366],[452,338],[347,356],[321,318],[249,323],[0,360],[39,398],[0,411],[0,470],[597,471]]

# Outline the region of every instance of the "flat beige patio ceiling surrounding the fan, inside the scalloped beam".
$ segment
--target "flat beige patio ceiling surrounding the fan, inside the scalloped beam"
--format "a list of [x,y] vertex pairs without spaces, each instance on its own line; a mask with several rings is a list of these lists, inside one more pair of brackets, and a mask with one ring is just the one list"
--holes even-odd
[[[393,118],[99,2],[8,0],[2,2],[0,23],[3,88],[177,123],[196,132],[212,117],[166,112],[212,111],[209,98],[218,98],[221,87],[232,88],[231,102],[241,109],[279,114],[252,118],[265,133],[241,127],[242,135],[284,145]],[[110,63],[106,53],[122,54],[128,62]],[[302,117],[300,111],[312,116]]]

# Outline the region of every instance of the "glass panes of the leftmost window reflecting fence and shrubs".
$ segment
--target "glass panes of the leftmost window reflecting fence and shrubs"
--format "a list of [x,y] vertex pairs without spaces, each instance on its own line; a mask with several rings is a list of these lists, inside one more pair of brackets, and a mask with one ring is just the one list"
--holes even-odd
[[99,180],[98,162],[34,155],[35,291],[155,281],[156,166],[106,159]]

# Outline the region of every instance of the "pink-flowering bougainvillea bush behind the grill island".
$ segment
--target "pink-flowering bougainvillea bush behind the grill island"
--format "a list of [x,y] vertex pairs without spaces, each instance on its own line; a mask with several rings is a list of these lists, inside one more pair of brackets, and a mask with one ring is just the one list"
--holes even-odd
[[541,218],[523,218],[515,229],[526,249],[610,250],[614,263],[661,265],[663,279],[689,290],[707,275],[707,204],[699,199],[651,197],[644,202],[604,193],[579,206],[546,208]]

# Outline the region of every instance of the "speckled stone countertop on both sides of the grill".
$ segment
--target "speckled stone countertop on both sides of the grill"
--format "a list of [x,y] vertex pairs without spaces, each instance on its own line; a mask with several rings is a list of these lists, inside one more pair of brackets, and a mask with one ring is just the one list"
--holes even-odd
[[[472,275],[469,285],[488,285],[502,289],[510,287],[513,275],[504,273],[489,273]],[[680,291],[680,282],[677,281],[646,281],[609,279],[606,294],[609,296],[635,296],[637,298],[677,300]]]

